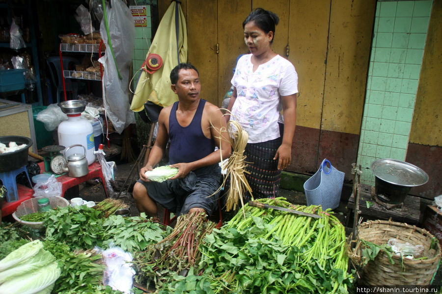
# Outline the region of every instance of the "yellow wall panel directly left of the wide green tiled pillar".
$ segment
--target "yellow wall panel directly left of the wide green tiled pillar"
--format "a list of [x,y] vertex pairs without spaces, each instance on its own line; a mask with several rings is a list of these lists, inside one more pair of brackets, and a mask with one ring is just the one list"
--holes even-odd
[[359,134],[375,0],[331,1],[321,129]]

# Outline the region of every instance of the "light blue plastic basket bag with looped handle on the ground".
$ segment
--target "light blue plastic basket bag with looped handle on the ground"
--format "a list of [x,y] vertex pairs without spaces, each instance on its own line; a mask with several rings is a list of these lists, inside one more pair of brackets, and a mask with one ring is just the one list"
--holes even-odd
[[319,170],[304,183],[307,205],[321,205],[323,209],[338,207],[344,175],[344,172],[339,172],[330,161],[324,159]]

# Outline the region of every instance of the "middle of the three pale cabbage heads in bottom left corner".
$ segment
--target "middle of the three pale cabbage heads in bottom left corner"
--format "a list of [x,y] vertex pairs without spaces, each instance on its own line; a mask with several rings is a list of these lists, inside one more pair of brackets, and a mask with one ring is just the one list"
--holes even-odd
[[0,284],[6,282],[12,277],[27,273],[29,271],[38,270],[39,268],[44,267],[54,261],[54,255],[45,249],[41,249],[31,258],[22,261],[21,263],[7,270],[3,270],[0,274]]

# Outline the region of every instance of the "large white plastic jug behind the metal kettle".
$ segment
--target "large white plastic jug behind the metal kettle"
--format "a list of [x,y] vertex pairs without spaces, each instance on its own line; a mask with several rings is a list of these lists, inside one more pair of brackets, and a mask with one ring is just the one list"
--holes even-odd
[[[68,119],[58,125],[58,145],[65,148],[81,144],[86,148],[87,164],[90,165],[95,161],[95,143],[94,129],[92,124],[81,117],[81,114],[68,114]],[[62,151],[64,154],[64,150]],[[83,154],[81,147],[72,147],[68,150],[66,157],[74,153]]]

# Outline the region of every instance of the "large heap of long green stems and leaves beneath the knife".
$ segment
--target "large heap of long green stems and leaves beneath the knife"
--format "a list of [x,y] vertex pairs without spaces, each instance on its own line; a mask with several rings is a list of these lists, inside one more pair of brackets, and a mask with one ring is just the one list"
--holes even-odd
[[158,293],[349,293],[343,225],[318,206],[293,207],[283,198],[259,199],[300,211],[312,219],[246,205],[200,245],[201,261],[186,277]]

